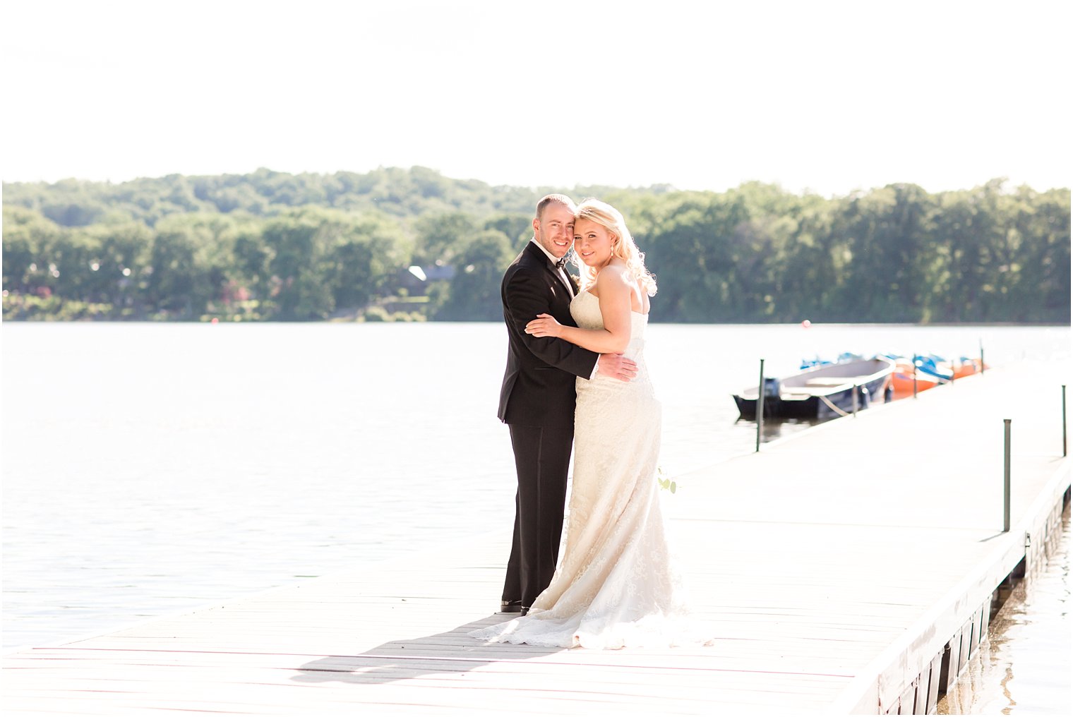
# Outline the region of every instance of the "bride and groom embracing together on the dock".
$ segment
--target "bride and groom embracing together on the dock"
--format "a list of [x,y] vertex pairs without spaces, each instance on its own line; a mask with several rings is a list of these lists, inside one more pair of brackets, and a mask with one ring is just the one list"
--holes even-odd
[[[571,247],[579,286],[564,267]],[[518,617],[470,635],[547,647],[710,642],[689,617],[660,511],[661,408],[644,360],[655,294],[618,210],[562,194],[540,201],[533,238],[502,282],[510,349],[499,418],[518,492],[500,612]]]

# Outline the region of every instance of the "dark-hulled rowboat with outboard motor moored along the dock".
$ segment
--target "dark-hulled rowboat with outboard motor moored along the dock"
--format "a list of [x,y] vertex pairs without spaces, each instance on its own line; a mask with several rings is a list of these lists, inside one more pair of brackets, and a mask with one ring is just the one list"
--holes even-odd
[[[886,356],[812,366],[782,379],[764,380],[764,415],[829,419],[890,398],[895,363]],[[759,386],[734,394],[743,419],[756,418]]]

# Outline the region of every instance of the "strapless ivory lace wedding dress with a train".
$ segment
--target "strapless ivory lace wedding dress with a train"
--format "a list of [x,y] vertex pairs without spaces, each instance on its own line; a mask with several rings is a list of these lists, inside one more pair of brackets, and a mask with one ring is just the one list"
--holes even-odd
[[[600,328],[599,299],[574,297],[583,328]],[[577,380],[574,477],[562,561],[529,614],[469,634],[546,647],[646,647],[709,640],[697,632],[674,569],[656,481],[661,408],[644,345],[648,316],[631,314],[626,355],[637,376]]]

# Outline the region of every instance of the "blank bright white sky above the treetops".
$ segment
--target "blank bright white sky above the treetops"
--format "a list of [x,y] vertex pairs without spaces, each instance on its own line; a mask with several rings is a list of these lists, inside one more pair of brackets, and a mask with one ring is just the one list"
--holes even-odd
[[0,172],[1070,187],[1071,6],[3,0]]

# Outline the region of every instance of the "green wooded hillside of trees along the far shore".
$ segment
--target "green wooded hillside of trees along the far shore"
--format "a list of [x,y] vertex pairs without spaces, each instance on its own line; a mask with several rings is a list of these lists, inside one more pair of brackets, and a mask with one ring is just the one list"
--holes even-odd
[[1070,322],[1070,191],[493,187],[425,167],[3,186],[3,318],[495,321],[550,191],[622,210],[667,322]]

